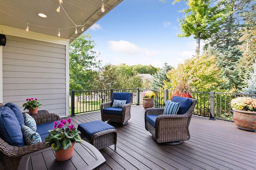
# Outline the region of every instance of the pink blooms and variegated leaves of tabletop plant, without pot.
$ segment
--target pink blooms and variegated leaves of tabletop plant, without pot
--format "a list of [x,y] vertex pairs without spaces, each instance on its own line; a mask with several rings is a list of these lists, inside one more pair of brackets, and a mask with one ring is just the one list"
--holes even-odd
[[53,130],[49,130],[48,137],[45,137],[46,145],[50,145],[52,150],[59,151],[60,148],[66,150],[72,146],[72,142],[82,143],[80,131],[71,123],[71,119],[54,121]]

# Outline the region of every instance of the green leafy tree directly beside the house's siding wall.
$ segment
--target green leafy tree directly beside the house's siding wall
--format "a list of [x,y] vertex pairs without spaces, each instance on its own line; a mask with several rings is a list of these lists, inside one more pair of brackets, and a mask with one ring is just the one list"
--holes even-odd
[[94,81],[94,69],[99,66],[100,61],[97,61],[97,53],[92,51],[95,43],[90,38],[88,33],[82,34],[70,43],[70,90],[90,90]]

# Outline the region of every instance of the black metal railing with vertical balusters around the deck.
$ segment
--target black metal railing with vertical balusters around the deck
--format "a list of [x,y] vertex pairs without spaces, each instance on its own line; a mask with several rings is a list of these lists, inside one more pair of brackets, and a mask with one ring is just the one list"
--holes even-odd
[[[109,89],[109,90],[71,90],[70,114],[86,113],[100,110],[100,105],[109,102],[113,92],[131,92],[134,94],[132,105],[142,104],[141,94],[151,90],[156,94],[154,107],[164,107],[165,102],[172,96],[171,90],[158,89]],[[198,100],[194,108],[194,115],[209,117],[210,119],[223,119],[233,121],[233,110],[230,106],[232,99],[237,97],[256,98],[256,94],[219,93],[219,92],[190,92]]]

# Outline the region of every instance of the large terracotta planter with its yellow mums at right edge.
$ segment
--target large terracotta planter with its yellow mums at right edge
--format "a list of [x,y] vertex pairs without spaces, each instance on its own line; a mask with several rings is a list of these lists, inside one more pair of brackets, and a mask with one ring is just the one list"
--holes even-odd
[[238,97],[231,100],[233,120],[239,129],[256,130],[256,99]]

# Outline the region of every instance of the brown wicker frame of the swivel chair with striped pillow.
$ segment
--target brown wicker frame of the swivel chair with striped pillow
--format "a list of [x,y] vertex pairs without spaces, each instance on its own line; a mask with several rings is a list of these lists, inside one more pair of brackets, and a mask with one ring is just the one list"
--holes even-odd
[[[192,99],[192,104],[182,115],[163,115],[164,108],[148,108],[145,111],[145,128],[152,134],[158,143],[177,145],[190,139],[188,126],[196,106],[197,100]],[[146,115],[158,115],[155,126],[146,121]]]

